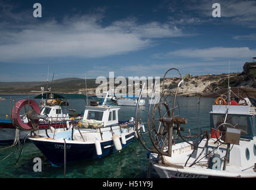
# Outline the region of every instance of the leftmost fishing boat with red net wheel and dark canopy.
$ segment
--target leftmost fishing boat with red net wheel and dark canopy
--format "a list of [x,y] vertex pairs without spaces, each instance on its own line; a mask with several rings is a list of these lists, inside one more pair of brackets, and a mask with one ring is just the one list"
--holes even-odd
[[[41,104],[37,110],[41,115],[37,126],[36,134],[63,131],[70,125],[76,123],[76,119],[82,116],[74,113],[74,110],[67,110],[69,103],[67,99],[86,99],[82,94],[61,94],[51,91],[31,91],[30,93],[40,93],[34,99],[41,99]],[[27,114],[31,107],[38,105],[35,100],[19,100],[11,110],[11,119],[0,120],[0,144],[12,144],[16,138],[23,139],[32,129],[32,124],[27,119]],[[48,120],[46,121],[45,118]],[[28,125],[29,124],[29,125]],[[16,131],[16,129],[20,129]]]

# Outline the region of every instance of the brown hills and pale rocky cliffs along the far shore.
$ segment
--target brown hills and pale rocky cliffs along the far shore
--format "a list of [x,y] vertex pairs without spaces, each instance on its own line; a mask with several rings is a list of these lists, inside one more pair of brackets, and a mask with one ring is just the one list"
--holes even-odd
[[[178,91],[180,96],[198,96],[207,94],[221,88],[227,88],[228,74],[206,74],[202,76],[192,76],[187,74],[184,77],[184,85]],[[87,79],[88,94],[94,94],[96,79]],[[161,78],[161,88],[162,88]],[[107,79],[109,81],[109,79]],[[179,83],[179,78],[167,78],[165,81],[166,90],[175,90]],[[256,63],[246,62],[243,65],[243,72],[230,74],[230,87],[253,87],[256,88]],[[127,90],[128,90],[127,79]],[[119,84],[115,84],[115,87]],[[32,90],[40,90],[41,87],[47,89],[46,81],[39,82],[0,82],[0,94],[28,94]],[[48,87],[56,93],[84,93],[86,92],[85,80],[82,78],[61,78],[48,82]],[[148,89],[149,90],[149,89]]]

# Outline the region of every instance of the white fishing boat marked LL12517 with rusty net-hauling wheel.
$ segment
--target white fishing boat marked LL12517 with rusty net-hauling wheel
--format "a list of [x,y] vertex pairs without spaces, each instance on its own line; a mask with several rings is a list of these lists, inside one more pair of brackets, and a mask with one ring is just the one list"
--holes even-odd
[[[210,126],[186,128],[189,121],[176,115],[182,77],[180,81],[171,106],[162,93],[159,103],[149,110],[145,126],[151,146],[138,135],[149,151],[149,167],[161,178],[255,178],[256,90],[229,87],[205,96],[215,98]],[[136,115],[135,124],[139,120]]]

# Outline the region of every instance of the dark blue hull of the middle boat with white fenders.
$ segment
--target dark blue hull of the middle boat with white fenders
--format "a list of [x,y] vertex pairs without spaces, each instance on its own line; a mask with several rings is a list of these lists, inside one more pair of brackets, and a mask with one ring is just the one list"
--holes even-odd
[[[126,135],[127,142],[122,144],[122,148],[132,143],[134,140],[134,132]],[[58,167],[64,164],[64,140],[37,140],[36,138],[29,138],[36,147],[44,154],[48,162],[52,166]],[[121,138],[120,138],[121,141]],[[112,140],[103,141],[100,143],[102,155],[98,156],[95,148],[95,143],[84,143],[82,141],[66,140],[66,163],[72,163],[79,160],[98,159],[109,154],[115,153],[116,148]]]

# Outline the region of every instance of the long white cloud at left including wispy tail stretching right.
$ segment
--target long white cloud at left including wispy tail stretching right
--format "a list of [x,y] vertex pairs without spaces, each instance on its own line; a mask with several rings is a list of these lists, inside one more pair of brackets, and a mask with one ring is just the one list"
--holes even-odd
[[[5,15],[11,11],[12,8],[7,9]],[[23,12],[19,14],[23,15]],[[16,23],[13,21],[18,18],[16,15],[10,23],[0,21],[0,61],[98,58],[144,49],[152,46],[152,38],[183,36],[177,27],[158,22],[138,24],[135,20],[121,20],[103,27],[100,24],[103,17],[100,12],[35,24],[35,19],[30,22],[27,18]]]

